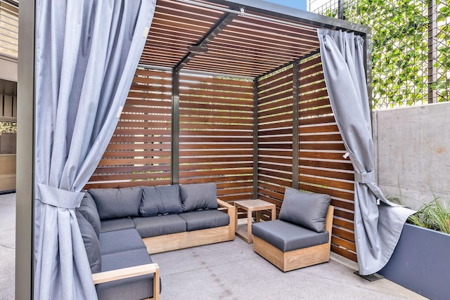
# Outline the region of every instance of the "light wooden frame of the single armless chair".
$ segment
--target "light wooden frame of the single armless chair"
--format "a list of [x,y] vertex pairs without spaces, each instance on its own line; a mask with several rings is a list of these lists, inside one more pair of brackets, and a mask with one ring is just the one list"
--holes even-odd
[[273,263],[283,272],[295,270],[315,265],[316,263],[326,263],[330,260],[331,230],[333,230],[334,207],[330,205],[326,214],[325,230],[328,231],[328,243],[303,249],[283,252],[265,240],[253,237],[253,250]]

